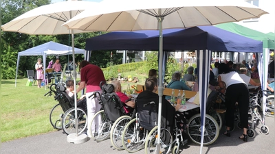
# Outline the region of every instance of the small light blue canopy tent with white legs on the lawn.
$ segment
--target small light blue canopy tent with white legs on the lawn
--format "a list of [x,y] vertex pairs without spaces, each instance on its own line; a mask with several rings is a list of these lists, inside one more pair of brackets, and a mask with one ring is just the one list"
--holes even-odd
[[[89,58],[89,53],[87,53],[84,49],[74,48],[74,52],[76,54],[84,54],[85,60]],[[69,47],[65,44],[60,44],[57,42],[46,42],[36,47],[32,47],[25,51],[21,51],[18,53],[17,57],[17,72],[15,75],[15,87],[17,86],[17,73],[19,68],[19,61],[21,56],[30,56],[30,55],[43,55],[43,68],[44,68],[44,79],[45,79],[45,67],[46,67],[46,57],[47,55],[72,55],[72,47]]]

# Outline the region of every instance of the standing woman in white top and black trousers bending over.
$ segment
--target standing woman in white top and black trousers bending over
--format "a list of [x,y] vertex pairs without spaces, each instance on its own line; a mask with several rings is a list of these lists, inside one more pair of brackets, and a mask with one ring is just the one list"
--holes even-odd
[[234,126],[234,106],[238,102],[241,127],[243,128],[243,135],[239,136],[244,142],[248,141],[248,105],[249,105],[249,92],[248,88],[234,70],[230,69],[226,64],[219,64],[219,86],[222,88],[221,92],[225,93],[225,121],[226,131],[224,135],[230,137],[230,127]]

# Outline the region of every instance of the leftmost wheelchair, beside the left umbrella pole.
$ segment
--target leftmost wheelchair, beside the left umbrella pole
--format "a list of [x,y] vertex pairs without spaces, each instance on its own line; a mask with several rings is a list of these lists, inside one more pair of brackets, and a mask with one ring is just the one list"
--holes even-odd
[[[69,97],[66,88],[61,85],[52,84],[50,91],[45,97],[52,96],[58,101],[50,112],[50,123],[55,129],[63,129],[66,134],[76,131],[75,107],[74,100]],[[78,101],[77,117],[78,117],[78,133],[82,133],[87,127],[87,104],[86,98]]]

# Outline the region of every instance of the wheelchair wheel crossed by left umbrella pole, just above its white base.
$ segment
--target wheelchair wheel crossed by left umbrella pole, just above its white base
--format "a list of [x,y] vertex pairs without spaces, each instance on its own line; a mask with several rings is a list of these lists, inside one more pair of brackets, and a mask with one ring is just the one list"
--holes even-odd
[[62,129],[66,134],[76,133],[76,114],[78,118],[78,133],[82,133],[87,127],[87,114],[80,107],[77,108],[77,112],[75,108],[72,107],[67,112],[65,112],[64,117],[62,119]]

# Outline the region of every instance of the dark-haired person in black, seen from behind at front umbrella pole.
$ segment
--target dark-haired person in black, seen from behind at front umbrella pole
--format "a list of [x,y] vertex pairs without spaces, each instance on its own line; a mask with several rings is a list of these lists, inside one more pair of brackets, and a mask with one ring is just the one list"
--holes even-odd
[[[146,105],[150,102],[155,102],[155,111],[158,113],[159,96],[155,92],[157,91],[157,78],[148,77],[145,81],[146,90],[141,92],[136,99],[137,113],[141,110],[146,110],[148,107]],[[173,133],[175,128],[175,120],[177,121],[177,127],[183,131],[184,125],[186,125],[186,119],[184,114],[177,112],[181,107],[177,104],[175,107],[171,105],[164,97],[162,97],[162,128],[168,129],[170,133]],[[142,117],[140,117],[142,118]],[[144,117],[145,118],[145,117]],[[143,120],[143,119],[140,119]]]

